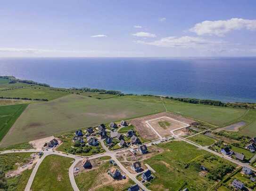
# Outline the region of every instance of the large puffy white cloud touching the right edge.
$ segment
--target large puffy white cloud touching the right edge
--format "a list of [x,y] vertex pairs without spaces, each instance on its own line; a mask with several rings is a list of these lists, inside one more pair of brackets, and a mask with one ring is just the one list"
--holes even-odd
[[256,30],[256,20],[232,18],[229,20],[204,21],[195,24],[190,31],[198,35],[216,35],[219,37],[233,30]]

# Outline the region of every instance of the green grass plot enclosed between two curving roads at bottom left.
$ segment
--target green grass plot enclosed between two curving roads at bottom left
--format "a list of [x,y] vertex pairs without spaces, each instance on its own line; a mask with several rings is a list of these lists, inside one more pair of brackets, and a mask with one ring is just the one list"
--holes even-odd
[[49,155],[41,163],[34,178],[33,191],[73,191],[68,169],[73,159],[58,155]]

